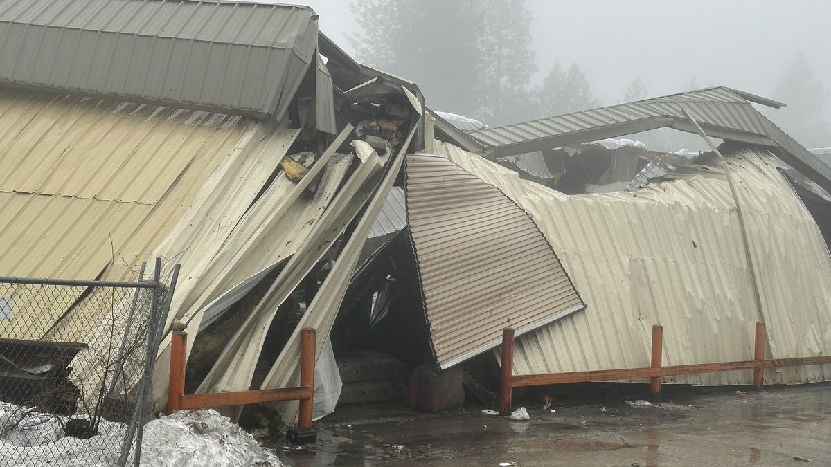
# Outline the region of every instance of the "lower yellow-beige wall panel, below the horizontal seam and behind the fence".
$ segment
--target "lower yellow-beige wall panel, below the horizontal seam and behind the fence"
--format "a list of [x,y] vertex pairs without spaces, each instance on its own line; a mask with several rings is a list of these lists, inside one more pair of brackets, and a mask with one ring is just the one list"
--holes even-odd
[[[150,212],[146,204],[0,193],[0,271],[28,278],[97,278]],[[112,242],[112,243],[111,243]],[[79,296],[17,297],[0,337],[39,339]],[[54,297],[51,297],[54,298]]]

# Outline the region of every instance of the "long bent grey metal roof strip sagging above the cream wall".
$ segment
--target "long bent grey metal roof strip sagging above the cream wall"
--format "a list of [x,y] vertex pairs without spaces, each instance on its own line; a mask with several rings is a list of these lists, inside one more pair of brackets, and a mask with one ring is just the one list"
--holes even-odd
[[[751,102],[775,108],[783,106],[779,102],[744,91],[716,86],[476,130],[466,136],[481,145],[486,157],[495,159],[631,135],[665,126],[696,133],[695,126],[684,115],[686,111],[698,121],[707,135],[766,146],[774,150],[779,159],[824,189],[831,190],[831,168],[757,111]],[[436,124],[437,128],[440,126]],[[467,139],[461,142],[468,143]],[[467,147],[465,149],[470,150]]]

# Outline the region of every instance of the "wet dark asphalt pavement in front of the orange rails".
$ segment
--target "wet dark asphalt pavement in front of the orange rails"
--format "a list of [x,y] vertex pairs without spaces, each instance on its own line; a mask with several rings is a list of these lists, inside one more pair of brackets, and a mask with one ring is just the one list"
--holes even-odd
[[439,414],[345,406],[316,423],[316,445],[278,455],[293,466],[831,465],[831,383],[735,389],[665,393],[644,407],[617,396],[531,402],[527,421],[472,404]]

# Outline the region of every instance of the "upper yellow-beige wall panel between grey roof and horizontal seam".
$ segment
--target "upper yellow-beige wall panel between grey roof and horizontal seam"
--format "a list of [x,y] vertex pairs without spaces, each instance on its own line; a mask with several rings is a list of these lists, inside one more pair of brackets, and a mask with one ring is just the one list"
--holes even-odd
[[244,125],[238,116],[0,89],[0,191],[154,204],[194,158],[230,151]]

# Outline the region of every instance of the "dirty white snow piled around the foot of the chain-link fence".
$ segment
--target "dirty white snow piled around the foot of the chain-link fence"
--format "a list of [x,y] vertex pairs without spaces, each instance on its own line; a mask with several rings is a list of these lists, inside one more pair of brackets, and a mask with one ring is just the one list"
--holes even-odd
[[[0,438],[0,467],[23,465],[116,465],[126,425],[101,420],[99,435],[87,440],[62,436],[55,442],[19,446]],[[62,434],[61,434],[62,435]],[[130,454],[132,460],[132,453]],[[130,462],[132,464],[132,462]],[[141,465],[232,467],[282,465],[228,417],[216,410],[183,410],[145,425]]]

